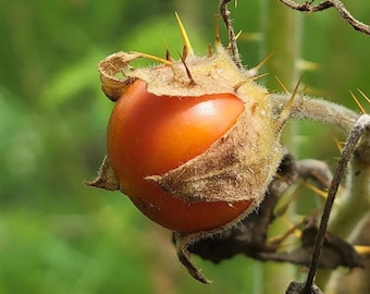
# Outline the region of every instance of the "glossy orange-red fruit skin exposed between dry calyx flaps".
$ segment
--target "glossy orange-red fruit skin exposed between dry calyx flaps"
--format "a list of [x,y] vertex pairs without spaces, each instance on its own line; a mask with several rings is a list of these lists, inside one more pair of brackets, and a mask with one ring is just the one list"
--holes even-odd
[[202,154],[243,109],[232,94],[156,96],[145,82],[135,81],[116,101],[108,125],[108,158],[121,191],[144,215],[173,231],[209,231],[233,221],[250,200],[187,203],[145,176],[163,174]]

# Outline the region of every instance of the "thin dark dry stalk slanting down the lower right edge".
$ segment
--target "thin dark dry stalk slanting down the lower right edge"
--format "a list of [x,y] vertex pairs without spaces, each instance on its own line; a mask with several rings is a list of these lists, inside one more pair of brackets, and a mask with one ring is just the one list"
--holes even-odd
[[319,228],[319,231],[316,237],[312,259],[311,259],[311,264],[309,267],[309,272],[307,275],[304,293],[307,293],[307,294],[311,293],[311,289],[312,289],[313,281],[314,281],[314,275],[319,267],[322,245],[325,240],[325,233],[326,233],[328,222],[330,218],[330,212],[332,210],[332,207],[335,200],[336,192],[338,189],[342,177],[344,175],[346,166],[354,152],[354,149],[359,138],[362,136],[362,134],[365,133],[367,128],[369,128],[369,115],[363,114],[355,123],[355,126],[349,133],[348,138],[346,140],[346,145],[343,148],[338,164],[335,169],[334,177],[332,180],[331,186],[328,192],[328,198],[326,198],[325,206],[322,212],[320,228]]

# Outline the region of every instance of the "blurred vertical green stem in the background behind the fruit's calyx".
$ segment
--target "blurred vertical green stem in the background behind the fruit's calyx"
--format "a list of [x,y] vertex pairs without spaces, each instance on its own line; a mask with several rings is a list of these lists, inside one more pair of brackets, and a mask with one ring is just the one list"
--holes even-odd
[[[278,1],[263,0],[261,5],[261,36],[260,58],[264,58],[269,52],[276,49],[275,53],[269,60],[263,70],[271,73],[263,78],[263,83],[268,88],[279,87],[274,74],[283,81],[287,88],[294,88],[301,73],[297,66],[301,57],[301,16],[298,13],[286,9]],[[279,20],[279,25],[273,20]],[[298,124],[291,122],[284,126],[282,140],[289,151],[294,155],[298,154],[297,148]],[[292,219],[296,216],[295,204],[291,205],[285,217]],[[269,230],[270,235],[279,235],[284,232],[286,224],[276,222]],[[286,245],[286,250],[293,249]],[[267,264],[262,268],[263,279],[274,281],[273,289],[275,293],[283,293],[286,284],[297,278],[297,268],[289,264]],[[261,285],[261,293],[271,291],[271,283]]]

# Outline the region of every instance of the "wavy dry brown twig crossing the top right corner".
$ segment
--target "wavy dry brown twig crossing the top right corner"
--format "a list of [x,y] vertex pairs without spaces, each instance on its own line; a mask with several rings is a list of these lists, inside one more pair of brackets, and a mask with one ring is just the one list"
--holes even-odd
[[296,3],[293,0],[279,0],[286,7],[298,10],[298,11],[306,11],[309,13],[323,11],[329,8],[335,8],[342,19],[344,19],[349,25],[351,25],[356,30],[359,30],[366,35],[370,35],[370,25],[367,25],[357,19],[355,19],[350,12],[344,7],[343,2],[341,0],[326,0],[323,1],[317,5],[313,5],[313,1],[307,1],[303,4]]

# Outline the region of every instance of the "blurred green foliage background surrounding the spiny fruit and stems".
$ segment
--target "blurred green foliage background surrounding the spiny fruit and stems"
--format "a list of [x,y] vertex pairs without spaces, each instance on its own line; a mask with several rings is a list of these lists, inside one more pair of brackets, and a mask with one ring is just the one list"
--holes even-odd
[[[279,25],[260,16],[261,3],[269,1],[238,1],[232,9],[235,29],[258,33],[262,22]],[[182,46],[174,11],[196,52],[205,52],[218,2],[0,0],[1,294],[261,293],[262,265],[244,257],[220,266],[197,259],[215,281],[200,285],[176,261],[169,232],[120,193],[82,184],[95,176],[106,152],[112,108],[96,64],[120,50],[163,56],[164,44],[176,56]],[[357,17],[370,21],[370,2],[349,4]],[[369,37],[334,11],[303,17],[303,56],[320,64],[305,73],[305,83],[355,108],[348,89],[370,95]],[[223,27],[222,34],[225,42]],[[255,65],[269,36],[243,36],[244,63]],[[330,130],[301,125],[301,157],[337,156]]]

